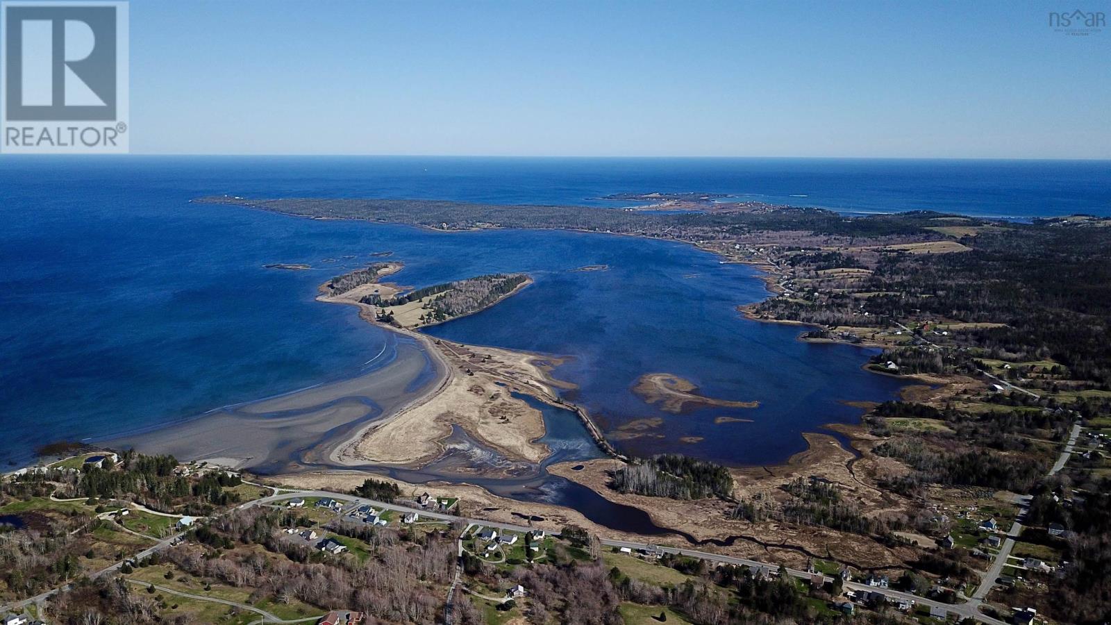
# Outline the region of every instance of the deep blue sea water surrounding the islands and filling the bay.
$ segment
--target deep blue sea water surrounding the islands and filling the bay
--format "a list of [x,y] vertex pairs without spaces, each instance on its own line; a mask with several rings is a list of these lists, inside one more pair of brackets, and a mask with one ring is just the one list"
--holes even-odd
[[[349,375],[383,346],[316,286],[393,251],[422,286],[490,271],[537,284],[434,334],[572,358],[558,375],[610,429],[664,417],[632,452],[777,462],[800,431],[851,421],[842,400],[897,385],[867,350],[798,343],[742,320],[751,269],[661,241],[571,232],[436,234],[321,222],[188,200],[208,194],[575,202],[710,191],[852,211],[930,208],[1029,218],[1111,215],[1108,162],[754,159],[0,158],[0,459],[128,431]],[[805,197],[798,197],[805,196]],[[353,256],[353,258],[352,258]],[[264,269],[306,262],[311,271]],[[608,271],[570,271],[603,264]],[[754,410],[661,414],[631,395],[670,371]],[[714,425],[723,415],[753,423]],[[682,443],[680,437],[701,437]],[[693,438],[690,440],[694,440]]]

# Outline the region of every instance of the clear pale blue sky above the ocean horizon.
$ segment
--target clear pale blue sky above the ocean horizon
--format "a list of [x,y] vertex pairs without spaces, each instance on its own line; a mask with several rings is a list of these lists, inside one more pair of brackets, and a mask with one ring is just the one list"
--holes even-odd
[[1065,4],[133,0],[131,148],[1111,158]]

